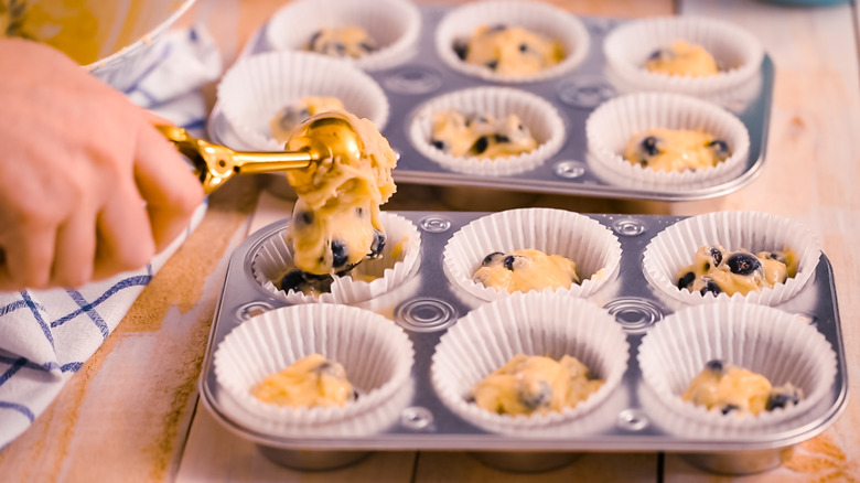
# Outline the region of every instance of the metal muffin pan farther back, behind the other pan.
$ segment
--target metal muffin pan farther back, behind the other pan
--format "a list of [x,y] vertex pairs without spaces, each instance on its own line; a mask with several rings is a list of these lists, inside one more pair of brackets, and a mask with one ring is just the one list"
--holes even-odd
[[[632,200],[695,201],[724,196],[748,185],[764,165],[774,80],[774,66],[767,55],[762,61],[757,76],[739,86],[737,94],[721,93],[713,99],[706,99],[722,105],[738,116],[750,133],[749,159],[737,178],[718,185],[684,191],[627,187],[610,184],[593,172],[587,161],[585,142],[585,120],[589,115],[603,101],[625,89],[612,79],[603,55],[604,37],[622,20],[581,17],[590,35],[590,52],[581,65],[560,77],[525,84],[493,84],[458,73],[439,58],[434,46],[436,30],[439,21],[451,9],[421,7],[419,10],[422,29],[415,55],[395,67],[367,73],[379,84],[390,104],[383,135],[400,155],[393,172],[398,183]],[[266,41],[266,28],[264,24],[251,36],[240,58],[271,50]],[[450,92],[491,85],[522,89],[552,104],[561,115],[567,131],[567,139],[559,152],[523,173],[477,175],[450,171],[416,150],[407,132],[418,106]],[[207,129],[214,141],[229,146],[230,127],[218,103],[213,108]]]

